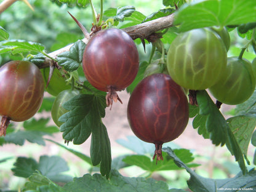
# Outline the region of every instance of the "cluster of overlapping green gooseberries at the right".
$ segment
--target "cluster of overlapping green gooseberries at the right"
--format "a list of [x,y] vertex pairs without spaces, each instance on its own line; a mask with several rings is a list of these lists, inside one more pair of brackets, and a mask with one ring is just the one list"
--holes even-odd
[[201,28],[178,34],[167,53],[167,69],[177,84],[190,90],[209,89],[222,103],[238,105],[254,92],[255,74],[244,58],[227,58],[226,28]]

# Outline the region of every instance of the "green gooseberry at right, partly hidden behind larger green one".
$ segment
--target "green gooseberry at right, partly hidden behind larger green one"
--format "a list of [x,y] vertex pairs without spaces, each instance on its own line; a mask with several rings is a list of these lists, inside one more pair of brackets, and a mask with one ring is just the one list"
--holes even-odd
[[229,57],[222,77],[209,90],[219,102],[238,105],[254,93],[255,81],[255,74],[248,60]]

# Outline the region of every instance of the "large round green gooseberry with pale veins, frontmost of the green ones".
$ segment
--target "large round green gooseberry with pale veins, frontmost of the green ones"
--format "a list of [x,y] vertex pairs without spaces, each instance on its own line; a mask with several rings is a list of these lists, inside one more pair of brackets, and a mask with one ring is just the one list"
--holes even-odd
[[213,86],[226,68],[226,47],[207,28],[178,34],[167,53],[167,70],[186,89],[203,90]]

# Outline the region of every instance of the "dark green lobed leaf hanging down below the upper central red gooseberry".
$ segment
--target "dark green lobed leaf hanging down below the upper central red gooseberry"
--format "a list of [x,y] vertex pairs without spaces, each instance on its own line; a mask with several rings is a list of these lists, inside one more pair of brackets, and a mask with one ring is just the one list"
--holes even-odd
[[81,144],[92,133],[90,156],[92,164],[100,163],[100,172],[107,175],[111,169],[110,140],[106,127],[102,123],[105,116],[106,100],[104,95],[80,94],[63,104],[70,110],[63,114],[59,121],[65,122],[60,126],[65,140],[73,140]]

